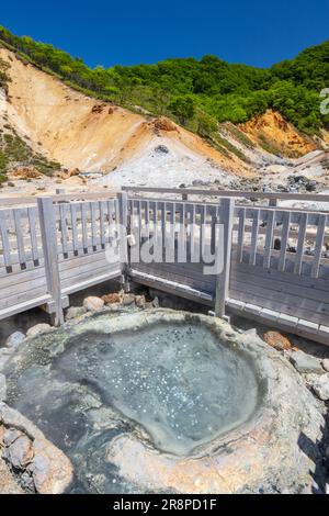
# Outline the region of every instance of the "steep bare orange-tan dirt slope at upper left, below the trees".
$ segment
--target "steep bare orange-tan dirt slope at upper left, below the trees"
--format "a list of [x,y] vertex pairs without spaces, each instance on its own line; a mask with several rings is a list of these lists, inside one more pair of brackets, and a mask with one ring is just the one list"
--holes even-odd
[[162,136],[178,142],[186,155],[212,159],[232,173],[250,173],[236,156],[224,156],[202,138],[171,122],[148,121],[122,108],[98,103],[76,92],[14,54],[0,49],[10,64],[8,121],[27,135],[35,150],[43,150],[67,168],[111,171],[141,152],[150,141]]

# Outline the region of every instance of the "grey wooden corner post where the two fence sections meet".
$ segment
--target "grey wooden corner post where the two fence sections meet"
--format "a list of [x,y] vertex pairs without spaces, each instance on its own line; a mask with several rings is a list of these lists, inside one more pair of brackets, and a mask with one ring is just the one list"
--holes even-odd
[[129,234],[128,217],[128,194],[127,192],[117,193],[118,202],[118,238],[120,238],[120,261],[121,273],[125,290],[129,290],[128,272],[129,272],[129,248],[127,235]]

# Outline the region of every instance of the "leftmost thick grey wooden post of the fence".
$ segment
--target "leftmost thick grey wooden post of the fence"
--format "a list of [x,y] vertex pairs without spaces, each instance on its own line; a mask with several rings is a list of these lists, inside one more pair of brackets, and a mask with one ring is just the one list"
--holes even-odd
[[55,326],[64,323],[58,270],[56,217],[52,198],[37,199],[48,293],[55,303]]

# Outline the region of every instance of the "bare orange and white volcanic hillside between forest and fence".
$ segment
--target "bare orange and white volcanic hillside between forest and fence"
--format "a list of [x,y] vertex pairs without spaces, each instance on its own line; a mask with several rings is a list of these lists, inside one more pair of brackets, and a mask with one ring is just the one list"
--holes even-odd
[[[3,36],[0,30],[1,34]],[[15,38],[16,47],[18,42],[24,45],[29,42],[32,48],[39,49],[38,59],[45,55],[44,47],[50,48],[50,56],[56,52],[63,59],[60,51],[47,45]],[[47,59],[50,63],[49,57]],[[37,60],[35,53],[33,60]],[[157,66],[161,68],[160,64]],[[179,67],[179,63],[175,66]],[[250,67],[243,69],[247,68],[250,75]],[[258,77],[263,74],[264,70],[257,71]],[[135,87],[128,88],[131,93]],[[81,87],[78,91],[77,88],[77,82],[68,83],[46,63],[35,66],[26,56],[22,57],[22,48],[13,52],[2,45],[0,183],[7,184],[7,191],[9,188],[11,192],[35,193],[54,190],[57,184],[66,188],[93,188],[94,183],[163,186],[163,180],[168,186],[216,183],[225,188],[263,188],[264,167],[272,176],[277,172],[280,184],[280,173],[294,165],[292,158],[326,146],[326,141],[328,145],[325,122],[319,125],[317,135],[305,134],[273,109],[235,124],[224,121],[223,115],[223,120],[219,116],[214,122],[198,108],[193,119],[183,120],[162,110],[161,102],[151,114],[150,105],[140,102],[143,99],[138,99],[139,106],[133,108],[127,100],[114,101],[113,94],[105,96],[107,101],[104,101],[95,99],[102,97],[95,91],[82,91]],[[123,91],[127,93],[124,86]],[[152,100],[152,91],[149,93],[148,101]],[[87,180],[78,176],[79,170],[102,172],[104,177]],[[311,177],[313,168],[307,173]],[[319,170],[315,173],[322,176]],[[7,178],[9,183],[5,183]],[[273,177],[271,182],[275,183]]]

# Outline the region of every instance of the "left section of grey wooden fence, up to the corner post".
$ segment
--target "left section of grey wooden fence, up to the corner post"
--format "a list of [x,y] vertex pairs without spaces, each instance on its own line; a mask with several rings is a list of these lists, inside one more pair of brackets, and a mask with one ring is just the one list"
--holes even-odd
[[121,273],[117,224],[117,199],[0,209],[0,318],[45,305],[61,324],[68,294]]

